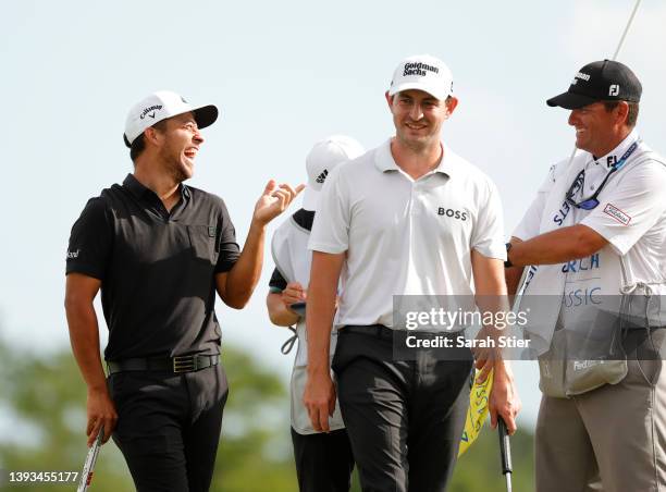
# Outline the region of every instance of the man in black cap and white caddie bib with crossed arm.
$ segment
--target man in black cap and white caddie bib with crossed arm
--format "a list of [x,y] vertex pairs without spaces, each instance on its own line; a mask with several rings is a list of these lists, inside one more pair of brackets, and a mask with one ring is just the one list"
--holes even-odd
[[[546,348],[553,341],[541,360],[538,492],[666,490],[666,167],[634,128],[641,93],[629,67],[603,60],[547,100],[571,110],[582,152],[551,169],[507,245],[509,293],[531,266],[523,300],[551,296],[530,328]],[[633,306],[621,324],[620,306]],[[592,344],[590,327],[603,335]],[[583,360],[562,352],[583,342]],[[590,348],[609,360],[591,365]]]

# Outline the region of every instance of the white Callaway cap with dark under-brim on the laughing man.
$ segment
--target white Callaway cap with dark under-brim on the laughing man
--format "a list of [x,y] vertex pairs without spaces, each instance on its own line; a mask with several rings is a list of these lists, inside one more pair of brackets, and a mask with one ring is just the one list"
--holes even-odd
[[125,120],[123,138],[127,147],[157,122],[192,111],[199,128],[212,125],[218,119],[218,108],[213,104],[192,106],[182,96],[171,90],[158,90],[134,104]]

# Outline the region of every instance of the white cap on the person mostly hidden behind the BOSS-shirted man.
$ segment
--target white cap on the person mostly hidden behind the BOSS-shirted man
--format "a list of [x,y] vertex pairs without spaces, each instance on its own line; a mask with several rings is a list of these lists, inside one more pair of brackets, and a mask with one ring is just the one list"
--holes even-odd
[[306,157],[308,185],[303,195],[303,208],[317,211],[319,195],[329,173],[337,164],[356,159],[365,151],[358,142],[345,135],[331,135],[314,144]]

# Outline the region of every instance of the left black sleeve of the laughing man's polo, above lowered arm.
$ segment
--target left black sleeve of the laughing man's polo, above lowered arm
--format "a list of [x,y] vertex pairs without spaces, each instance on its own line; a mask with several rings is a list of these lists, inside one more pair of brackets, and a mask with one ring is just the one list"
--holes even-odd
[[82,273],[104,279],[113,248],[111,212],[101,197],[90,198],[72,225],[65,274]]

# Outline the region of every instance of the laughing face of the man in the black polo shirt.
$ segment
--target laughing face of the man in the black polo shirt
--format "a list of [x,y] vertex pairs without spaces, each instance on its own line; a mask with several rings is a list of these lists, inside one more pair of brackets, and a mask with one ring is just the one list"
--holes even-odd
[[194,175],[194,160],[203,143],[194,113],[183,113],[165,121],[164,130],[157,130],[158,157],[177,183]]

